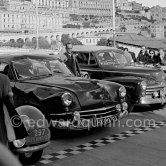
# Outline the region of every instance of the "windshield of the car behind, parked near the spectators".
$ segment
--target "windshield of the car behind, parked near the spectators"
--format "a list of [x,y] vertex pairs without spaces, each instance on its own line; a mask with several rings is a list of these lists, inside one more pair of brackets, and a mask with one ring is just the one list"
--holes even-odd
[[115,51],[100,52],[98,54],[98,60],[101,65],[128,64],[124,54]]

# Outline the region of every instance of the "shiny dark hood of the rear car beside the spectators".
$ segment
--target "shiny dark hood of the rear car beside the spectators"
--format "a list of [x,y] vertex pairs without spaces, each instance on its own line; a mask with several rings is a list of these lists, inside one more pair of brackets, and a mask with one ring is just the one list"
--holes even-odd
[[118,76],[138,76],[152,79],[156,81],[164,81],[164,72],[161,69],[155,67],[144,67],[144,66],[114,66],[110,67],[108,65],[103,66],[104,70],[111,70],[113,72],[117,72]]

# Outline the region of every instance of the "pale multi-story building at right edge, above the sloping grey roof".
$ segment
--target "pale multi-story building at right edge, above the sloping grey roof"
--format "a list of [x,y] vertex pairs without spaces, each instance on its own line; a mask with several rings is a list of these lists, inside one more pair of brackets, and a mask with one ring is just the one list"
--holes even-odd
[[164,39],[166,38],[166,22],[157,21],[150,26],[151,34],[158,38]]

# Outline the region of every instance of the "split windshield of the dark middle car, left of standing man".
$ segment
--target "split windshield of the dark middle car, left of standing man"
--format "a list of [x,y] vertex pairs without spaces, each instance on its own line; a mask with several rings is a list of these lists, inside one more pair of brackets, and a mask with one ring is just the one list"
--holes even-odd
[[63,62],[55,59],[18,59],[13,61],[19,79],[50,76],[54,74],[73,75]]

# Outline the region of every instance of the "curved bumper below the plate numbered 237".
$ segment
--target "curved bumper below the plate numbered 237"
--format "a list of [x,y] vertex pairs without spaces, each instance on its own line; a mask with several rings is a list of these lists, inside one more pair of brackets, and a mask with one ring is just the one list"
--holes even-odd
[[25,148],[16,149],[15,151],[17,153],[32,153],[32,152],[36,152],[46,148],[49,144],[50,142],[47,142],[41,145],[36,145],[36,146],[27,146]]

